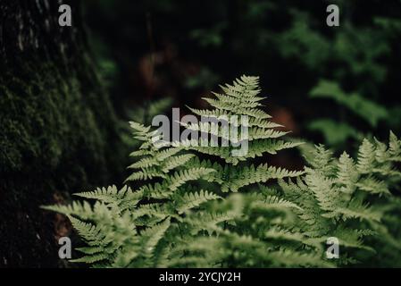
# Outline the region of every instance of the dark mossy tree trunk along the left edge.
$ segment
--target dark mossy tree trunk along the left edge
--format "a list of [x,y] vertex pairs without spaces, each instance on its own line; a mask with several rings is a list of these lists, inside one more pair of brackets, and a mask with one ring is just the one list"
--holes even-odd
[[60,4],[0,1],[0,266],[59,265],[54,214],[39,206],[121,170],[79,1],[72,27],[58,25]]

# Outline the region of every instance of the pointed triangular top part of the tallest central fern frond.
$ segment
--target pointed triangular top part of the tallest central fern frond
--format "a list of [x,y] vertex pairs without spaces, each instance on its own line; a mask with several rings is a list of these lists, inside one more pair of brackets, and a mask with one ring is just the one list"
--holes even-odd
[[[214,98],[205,98],[213,107],[213,110],[191,109],[194,114],[205,116],[207,118],[230,118],[230,116],[247,115],[249,121],[244,124],[238,122],[238,128],[245,127],[248,130],[246,140],[249,142],[248,152],[243,156],[232,156],[232,150],[229,148],[215,147],[193,147],[194,150],[207,155],[220,156],[228,164],[238,164],[240,161],[246,161],[248,158],[263,156],[264,153],[275,154],[276,152],[295,147],[300,143],[286,143],[278,138],[287,134],[287,132],[274,130],[280,127],[279,124],[270,122],[271,115],[265,113],[259,107],[263,97],[259,96],[259,79],[257,77],[242,76],[233,82],[232,85],[221,86],[222,94],[213,93]],[[225,117],[222,117],[225,116]],[[222,119],[224,121],[224,119]],[[204,130],[204,132],[217,135],[221,139],[229,140],[231,143],[238,143],[238,139],[231,139],[224,136],[224,128],[217,127],[217,132],[212,132],[212,127],[205,128],[202,123],[186,125],[189,130]],[[207,126],[206,126],[207,127]],[[231,152],[230,152],[231,151]]]

